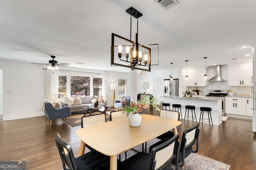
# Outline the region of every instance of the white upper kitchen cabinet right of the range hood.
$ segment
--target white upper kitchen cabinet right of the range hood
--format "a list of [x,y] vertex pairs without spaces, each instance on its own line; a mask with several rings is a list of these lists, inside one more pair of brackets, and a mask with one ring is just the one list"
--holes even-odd
[[253,67],[251,63],[229,65],[228,85],[229,86],[252,86]]

